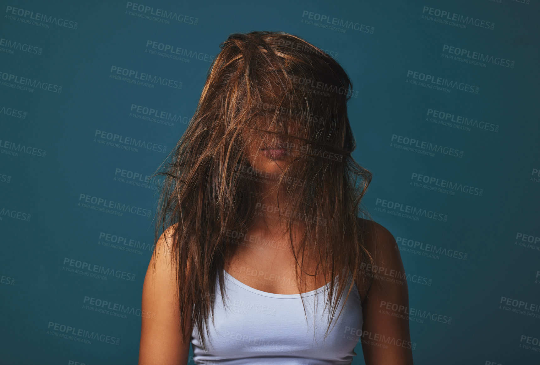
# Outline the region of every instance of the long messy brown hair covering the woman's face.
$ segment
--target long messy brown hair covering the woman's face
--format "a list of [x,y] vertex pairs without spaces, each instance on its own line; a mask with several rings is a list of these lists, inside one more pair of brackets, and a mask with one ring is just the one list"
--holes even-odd
[[[233,33],[220,49],[194,116],[158,173],[165,179],[155,238],[173,227],[181,331],[186,338],[196,324],[203,346],[215,282],[224,297],[222,269],[238,249],[225,232],[247,232],[260,215],[260,176],[246,153],[252,138],[272,135],[290,150],[291,163],[274,184],[287,194],[287,201],[278,202],[278,216],[288,227],[299,292],[304,275],[322,272],[331,281],[327,303],[333,303],[333,319],[333,295],[347,290],[347,300],[353,289],[343,270],[367,283],[364,268],[374,263],[361,223],[368,221],[359,218],[369,217],[360,203],[372,174],[351,156],[356,144],[347,101],[353,91],[345,70],[318,47],[284,32]],[[303,183],[292,183],[298,181]],[[293,225],[299,222],[303,235],[295,239]],[[308,273],[305,263],[313,261],[315,273]],[[185,328],[189,316],[191,327]]]

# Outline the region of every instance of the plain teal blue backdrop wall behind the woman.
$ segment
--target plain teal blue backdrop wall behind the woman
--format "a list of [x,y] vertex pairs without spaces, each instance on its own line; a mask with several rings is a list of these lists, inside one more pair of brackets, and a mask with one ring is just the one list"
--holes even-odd
[[[357,142],[354,157],[374,173],[366,206],[395,237],[468,254],[467,260],[434,259],[402,251],[406,272],[431,279],[430,285],[408,283],[410,306],[453,318],[450,325],[410,322],[415,364],[540,363],[540,353],[519,348],[521,335],[540,338],[540,319],[499,308],[501,297],[540,304],[540,251],[515,245],[518,232],[540,237],[540,183],[531,175],[540,169],[536,0],[143,4],[196,17],[198,23],[163,24],[130,16],[126,2],[119,1],[2,3],[4,10],[14,6],[78,22],[77,29],[45,29],[2,18],[0,38],[36,45],[42,54],[0,52],[0,72],[62,86],[62,93],[0,86],[0,107],[26,112],[24,119],[0,114],[0,139],[46,150],[44,158],[0,154],[0,209],[31,215],[29,221],[9,215],[0,220],[2,363],[137,363],[140,316],[118,318],[83,305],[84,297],[93,297],[140,308],[152,220],[105,214],[78,203],[80,194],[87,194],[154,209],[152,189],[115,181],[114,171],[151,175],[166,154],[102,146],[93,141],[95,130],[171,149],[186,124],[177,121],[170,127],[136,119],[129,116],[130,106],[191,118],[210,63],[153,56],[145,53],[146,40],[215,56],[230,33],[252,30],[285,31],[339,53],[336,59],[359,91],[348,109]],[[495,27],[461,29],[422,19],[423,6],[488,20]],[[303,10],[375,30],[343,33],[302,23]],[[450,60],[441,57],[443,44],[514,60],[515,67]],[[183,87],[147,88],[113,80],[111,66],[180,80]],[[411,85],[405,82],[408,70],[469,82],[480,91],[446,93]],[[500,127],[496,133],[445,127],[426,121],[428,108]],[[463,157],[394,148],[393,134],[454,147],[463,150]],[[470,184],[482,188],[483,195],[416,188],[410,184],[413,172]],[[377,210],[377,198],[439,211],[448,219],[414,221],[386,214]],[[139,254],[104,247],[98,244],[100,232],[139,240],[146,249]],[[66,272],[65,258],[131,273],[135,279],[99,280]],[[49,322],[116,336],[119,345],[51,336],[46,334]],[[364,363],[360,342],[356,353],[353,363]]]

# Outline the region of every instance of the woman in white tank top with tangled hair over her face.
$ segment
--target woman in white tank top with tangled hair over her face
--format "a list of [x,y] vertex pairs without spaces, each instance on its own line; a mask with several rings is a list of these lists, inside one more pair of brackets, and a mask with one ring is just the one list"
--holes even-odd
[[[143,287],[139,365],[413,363],[407,280],[361,200],[352,84],[283,32],[220,45],[173,151]],[[159,235],[159,232],[163,232]]]

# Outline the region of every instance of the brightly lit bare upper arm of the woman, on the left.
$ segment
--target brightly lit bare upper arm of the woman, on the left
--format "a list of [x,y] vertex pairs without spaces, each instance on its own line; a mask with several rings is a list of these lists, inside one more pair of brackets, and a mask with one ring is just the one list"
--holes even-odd
[[[139,365],[187,364],[191,334],[182,339],[176,268],[168,248],[173,227],[165,230],[156,242],[144,278],[142,310],[145,315],[141,315]],[[186,325],[189,328],[191,323]]]

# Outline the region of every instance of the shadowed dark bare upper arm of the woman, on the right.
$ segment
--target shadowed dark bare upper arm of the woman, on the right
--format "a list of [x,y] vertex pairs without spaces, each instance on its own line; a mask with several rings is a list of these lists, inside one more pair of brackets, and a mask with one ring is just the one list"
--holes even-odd
[[[366,248],[374,255],[375,267],[362,304],[362,352],[367,365],[413,364],[410,342],[407,279],[399,247],[392,233],[382,225],[370,222]],[[379,279],[379,280],[377,280]]]

